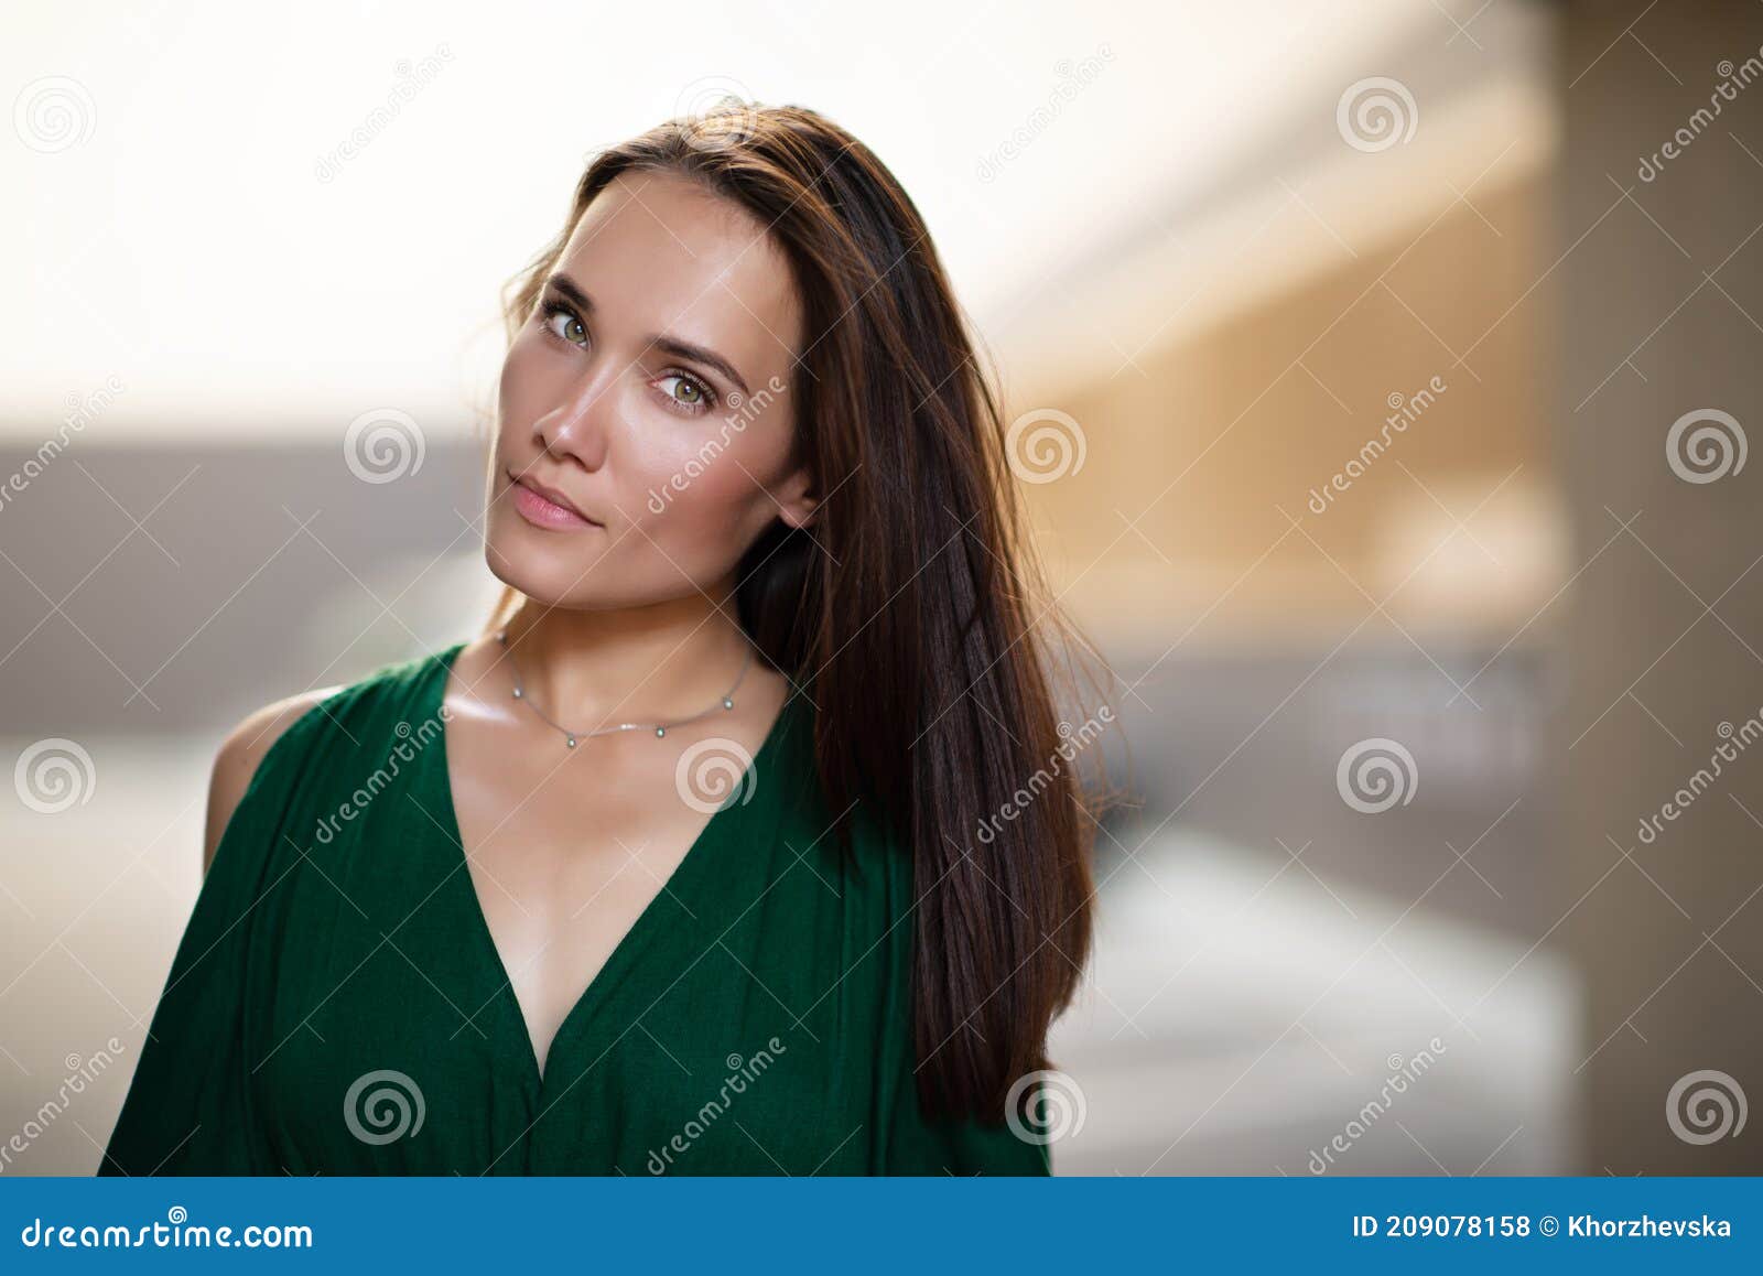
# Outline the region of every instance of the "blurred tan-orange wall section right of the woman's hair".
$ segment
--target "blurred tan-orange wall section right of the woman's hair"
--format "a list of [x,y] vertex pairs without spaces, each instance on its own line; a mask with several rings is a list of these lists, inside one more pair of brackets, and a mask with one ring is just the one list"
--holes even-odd
[[[1391,613],[1500,638],[1521,626],[1562,564],[1551,287],[1534,287],[1550,261],[1546,187],[1477,189],[1474,210],[1342,247],[1333,271],[1053,400],[1088,446],[1079,472],[1031,486],[1067,601],[1098,631],[1165,642],[1216,603],[1192,643],[1278,640],[1358,622],[1361,589],[1382,601],[1446,541]],[[1432,377],[1446,386],[1435,402],[1326,513],[1310,509],[1380,434],[1387,397]],[[1040,407],[1035,393],[1019,386],[1012,414]],[[1451,515],[1477,506],[1449,536]]]

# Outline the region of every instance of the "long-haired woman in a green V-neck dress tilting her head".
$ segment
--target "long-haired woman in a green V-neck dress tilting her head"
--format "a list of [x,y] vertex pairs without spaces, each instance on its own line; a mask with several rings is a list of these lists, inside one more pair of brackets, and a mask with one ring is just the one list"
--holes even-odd
[[1093,816],[911,201],[730,104],[506,312],[502,605],[227,738],[100,1172],[1045,1174]]

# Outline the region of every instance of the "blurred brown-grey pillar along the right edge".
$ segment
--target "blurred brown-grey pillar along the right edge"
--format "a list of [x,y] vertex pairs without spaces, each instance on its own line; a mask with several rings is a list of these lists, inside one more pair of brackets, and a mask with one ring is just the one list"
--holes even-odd
[[[1560,74],[1574,1073],[1592,1172],[1759,1172],[1740,1123],[1763,1098],[1763,486],[1742,455],[1763,405],[1763,11],[1631,21],[1567,5]],[[1673,437],[1685,416],[1703,442]]]

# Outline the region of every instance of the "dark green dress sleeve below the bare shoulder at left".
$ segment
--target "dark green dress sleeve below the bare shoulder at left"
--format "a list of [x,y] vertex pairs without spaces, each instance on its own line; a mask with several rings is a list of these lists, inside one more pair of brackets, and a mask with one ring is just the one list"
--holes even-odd
[[279,878],[296,723],[259,761],[215,848],[97,1174],[273,1174],[252,1102],[247,996]]

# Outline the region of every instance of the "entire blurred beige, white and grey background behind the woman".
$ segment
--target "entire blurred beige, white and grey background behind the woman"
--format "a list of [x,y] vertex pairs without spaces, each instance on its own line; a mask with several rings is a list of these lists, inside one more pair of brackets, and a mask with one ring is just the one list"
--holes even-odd
[[1737,0],[9,12],[0,1172],[97,1165],[222,735],[481,622],[499,287],[723,92],[911,192],[1120,679],[1056,1170],[1763,1170],[1759,79]]

